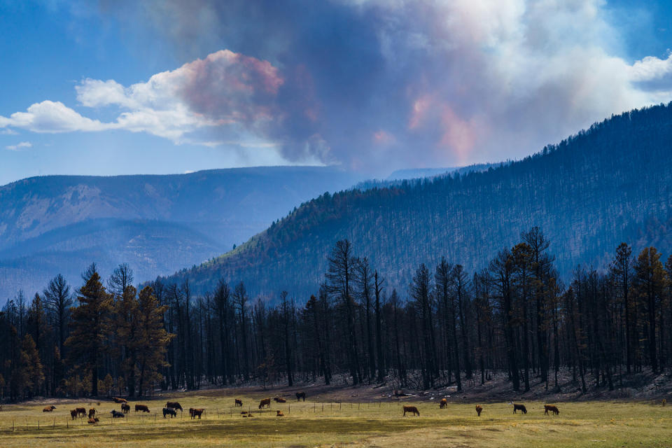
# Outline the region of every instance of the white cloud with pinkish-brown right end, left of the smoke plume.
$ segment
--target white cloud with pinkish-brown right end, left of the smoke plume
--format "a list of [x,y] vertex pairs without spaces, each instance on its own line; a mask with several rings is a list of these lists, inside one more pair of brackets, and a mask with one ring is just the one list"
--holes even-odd
[[79,104],[118,109],[111,123],[86,118],[61,102],[44,101],[26,112],[0,116],[0,128],[51,133],[127,130],[179,144],[197,130],[228,127],[231,137],[237,137],[240,130],[277,118],[273,102],[282,83],[268,62],[220,50],[130,87],[115,80],[83,80],[75,87]]

